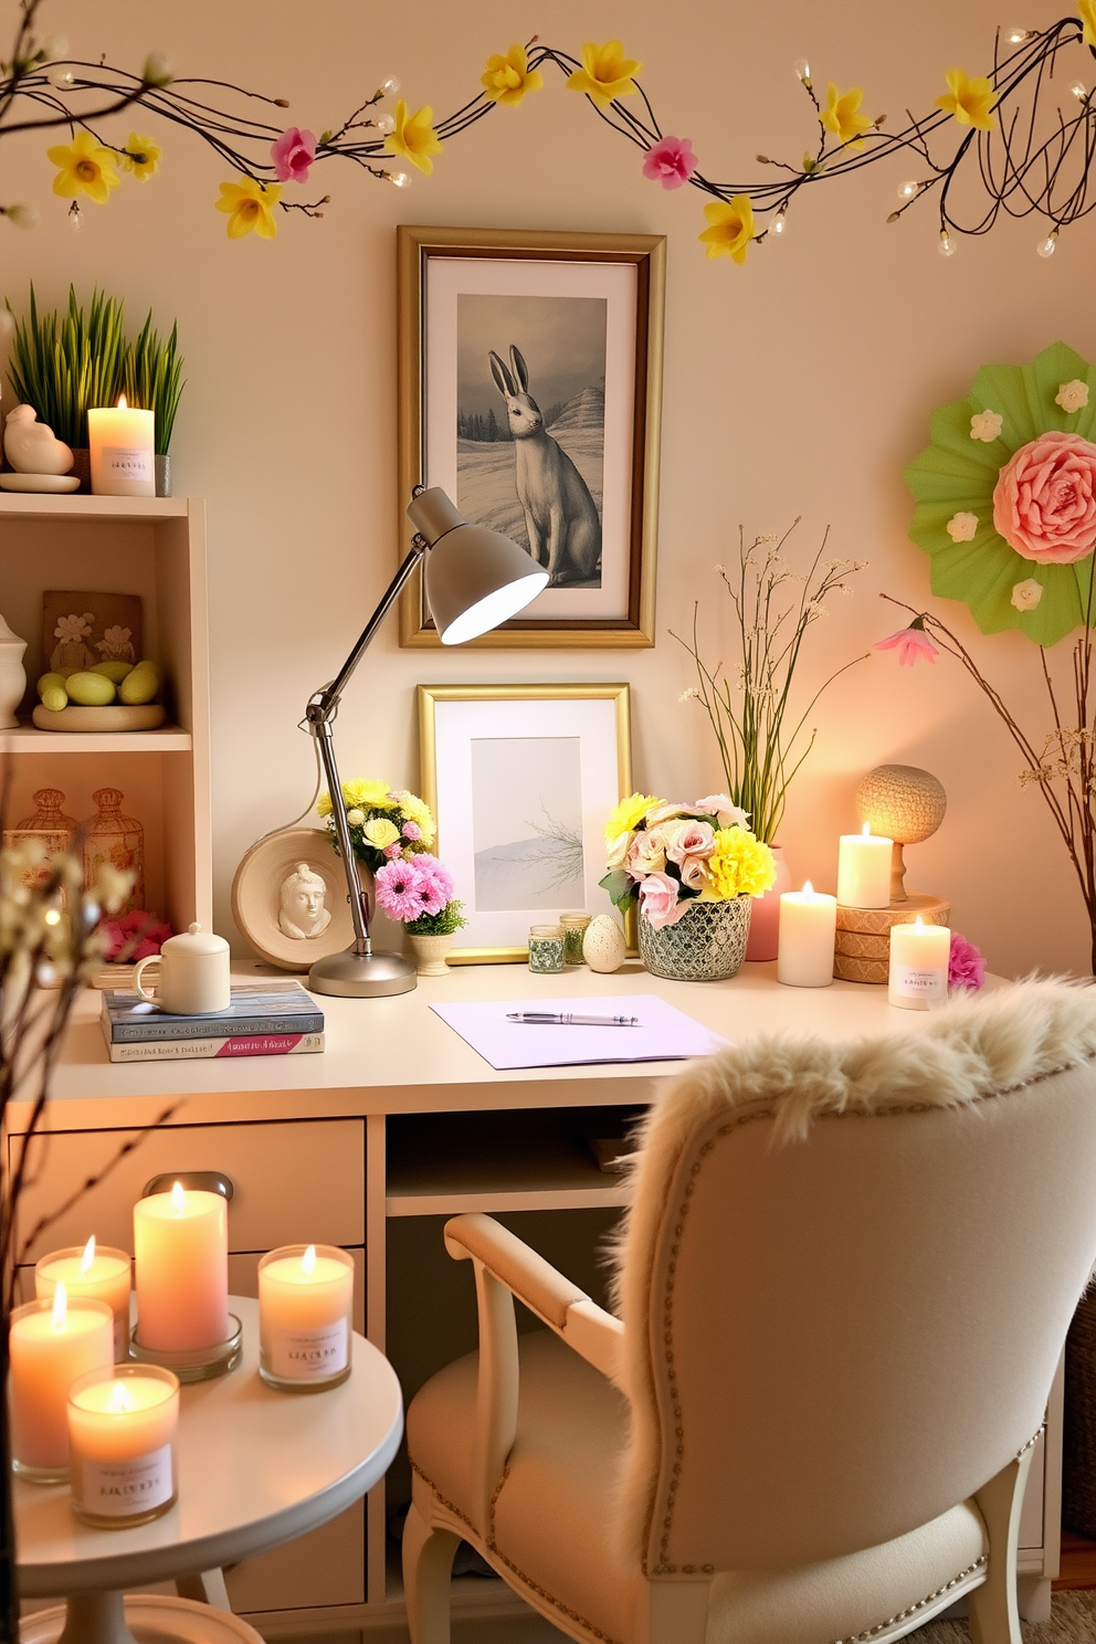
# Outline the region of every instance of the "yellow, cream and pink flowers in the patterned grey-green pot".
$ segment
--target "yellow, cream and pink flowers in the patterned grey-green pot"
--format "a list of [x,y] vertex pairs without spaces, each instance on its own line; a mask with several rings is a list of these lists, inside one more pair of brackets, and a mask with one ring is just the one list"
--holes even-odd
[[601,889],[621,909],[639,903],[656,931],[677,924],[695,898],[726,903],[761,896],[776,883],[772,852],[726,794],[695,806],[631,794],[605,824],[605,842],[610,871]]

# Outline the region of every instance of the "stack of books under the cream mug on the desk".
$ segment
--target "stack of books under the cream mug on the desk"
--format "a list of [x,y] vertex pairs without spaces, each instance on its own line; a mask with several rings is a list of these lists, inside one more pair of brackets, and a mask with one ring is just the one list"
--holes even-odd
[[299,981],[233,986],[228,1009],[207,1016],[169,1016],[136,993],[107,988],[100,1021],[112,1062],[197,1062],[324,1049],[324,1013]]

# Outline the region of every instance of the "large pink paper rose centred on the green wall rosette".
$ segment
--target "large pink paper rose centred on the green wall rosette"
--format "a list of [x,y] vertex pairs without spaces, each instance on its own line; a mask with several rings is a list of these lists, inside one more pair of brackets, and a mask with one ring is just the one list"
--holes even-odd
[[1096,446],[1061,432],[1020,446],[997,475],[992,523],[1024,559],[1084,559],[1096,546]]

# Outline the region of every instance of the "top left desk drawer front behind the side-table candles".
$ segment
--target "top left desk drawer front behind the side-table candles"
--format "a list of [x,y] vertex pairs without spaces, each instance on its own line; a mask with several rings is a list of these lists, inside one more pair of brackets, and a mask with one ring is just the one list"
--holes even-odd
[[[23,1190],[23,1236],[99,1175],[136,1131],[62,1131],[33,1144],[33,1185]],[[8,1148],[21,1139],[13,1136]],[[133,1203],[153,1175],[220,1171],[232,1179],[228,1248],[365,1243],[365,1124],[301,1120],[279,1124],[171,1124],[150,1131],[107,1179],[46,1228],[30,1259],[94,1233],[133,1249]]]

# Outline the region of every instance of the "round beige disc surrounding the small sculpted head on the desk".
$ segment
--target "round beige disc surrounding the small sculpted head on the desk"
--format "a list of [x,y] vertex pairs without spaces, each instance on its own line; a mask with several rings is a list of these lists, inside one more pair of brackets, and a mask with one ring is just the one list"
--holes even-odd
[[[299,861],[307,861],[327,886],[330,924],[319,935],[286,935],[278,924],[281,888]],[[366,884],[365,870],[358,876]],[[370,894],[370,912],[373,898]],[[279,970],[311,970],[317,958],[353,942],[347,876],[325,829],[289,827],[251,845],[232,881],[232,916],[255,952]]]

